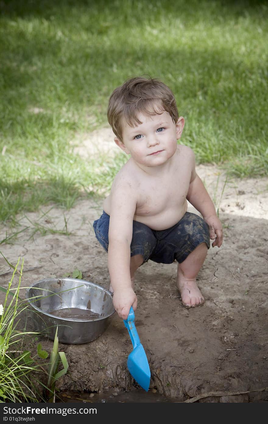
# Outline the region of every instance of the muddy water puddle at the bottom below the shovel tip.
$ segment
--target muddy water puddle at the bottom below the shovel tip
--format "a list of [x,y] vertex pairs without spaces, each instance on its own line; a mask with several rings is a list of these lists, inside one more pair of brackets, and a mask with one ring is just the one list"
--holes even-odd
[[151,403],[151,402],[183,402],[183,399],[171,399],[160,395],[155,389],[148,392],[143,389],[133,388],[131,391],[110,390],[105,393],[78,393],[65,392],[58,395],[56,402],[90,402],[90,403]]

